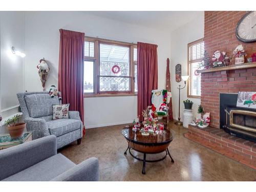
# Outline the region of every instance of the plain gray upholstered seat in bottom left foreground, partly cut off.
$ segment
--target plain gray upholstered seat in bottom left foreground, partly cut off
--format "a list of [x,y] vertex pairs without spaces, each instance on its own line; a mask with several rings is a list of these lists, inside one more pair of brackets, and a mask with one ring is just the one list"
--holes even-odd
[[0,151],[0,181],[98,181],[93,157],[78,165],[57,154],[56,136],[29,141]]

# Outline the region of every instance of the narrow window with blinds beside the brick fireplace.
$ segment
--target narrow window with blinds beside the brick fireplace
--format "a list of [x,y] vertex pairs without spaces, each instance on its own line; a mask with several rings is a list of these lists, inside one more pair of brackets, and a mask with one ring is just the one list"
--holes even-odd
[[199,39],[190,42],[188,48],[188,97],[200,98],[201,97],[201,74],[195,73],[203,60],[204,54],[204,41]]

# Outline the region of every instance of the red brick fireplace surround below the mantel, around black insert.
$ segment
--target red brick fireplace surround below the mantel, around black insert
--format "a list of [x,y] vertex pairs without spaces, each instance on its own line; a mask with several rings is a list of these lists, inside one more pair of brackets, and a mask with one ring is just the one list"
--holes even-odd
[[220,128],[220,93],[256,91],[256,68],[201,74],[201,104],[210,112],[211,126]]

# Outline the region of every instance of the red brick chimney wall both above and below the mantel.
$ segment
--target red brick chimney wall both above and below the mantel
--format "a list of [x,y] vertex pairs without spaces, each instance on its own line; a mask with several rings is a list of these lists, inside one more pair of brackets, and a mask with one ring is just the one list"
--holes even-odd
[[[236,25],[244,14],[245,11],[205,11],[204,42],[209,57],[216,50],[232,55],[232,51],[240,44],[248,56],[256,53],[256,42],[246,44],[236,37]],[[234,64],[233,60],[231,65]],[[205,112],[210,112],[211,126],[214,127],[220,126],[219,93],[256,91],[256,68],[202,73],[201,77],[201,104]]]

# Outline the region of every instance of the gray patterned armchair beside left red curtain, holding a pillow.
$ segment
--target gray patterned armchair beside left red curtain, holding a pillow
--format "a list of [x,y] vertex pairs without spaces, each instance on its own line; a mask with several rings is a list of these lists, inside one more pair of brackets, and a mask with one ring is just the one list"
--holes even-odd
[[77,111],[69,111],[69,119],[52,120],[52,105],[59,104],[57,97],[48,92],[25,92],[17,94],[27,130],[33,131],[33,139],[55,135],[57,148],[75,140],[81,143],[82,121]]

